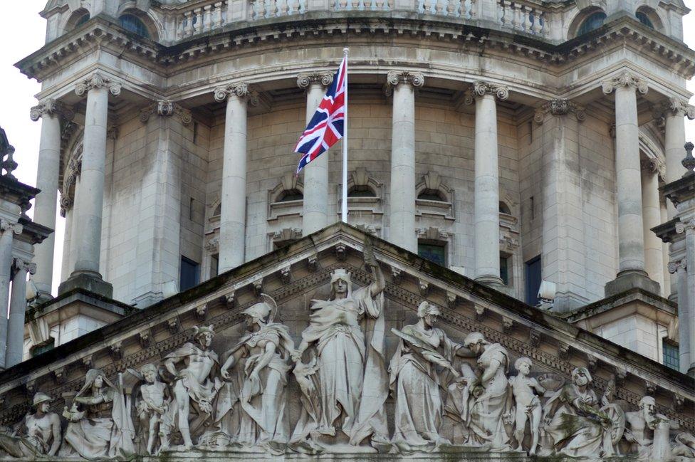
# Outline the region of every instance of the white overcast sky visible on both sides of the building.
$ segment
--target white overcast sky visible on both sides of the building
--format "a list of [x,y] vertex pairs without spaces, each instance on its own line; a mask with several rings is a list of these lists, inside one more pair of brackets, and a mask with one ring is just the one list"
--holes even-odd
[[[685,0],[686,6],[695,10],[695,0]],[[16,148],[15,159],[19,163],[16,177],[19,181],[35,185],[38,160],[38,141],[41,136],[41,122],[31,122],[29,108],[36,105],[34,95],[41,85],[19,73],[14,63],[30,55],[43,46],[46,34],[46,21],[38,16],[38,11],[46,5],[46,0],[16,1],[3,15],[0,27],[0,127]],[[695,48],[695,13],[684,19],[685,42]],[[689,81],[688,88],[695,93],[695,82]],[[691,104],[695,98],[691,98]],[[686,121],[686,138],[695,141],[695,121]],[[33,209],[28,212],[33,214]],[[63,233],[65,220],[58,216],[56,223],[56,256],[53,268],[53,293],[57,292],[61,275],[63,256]]]

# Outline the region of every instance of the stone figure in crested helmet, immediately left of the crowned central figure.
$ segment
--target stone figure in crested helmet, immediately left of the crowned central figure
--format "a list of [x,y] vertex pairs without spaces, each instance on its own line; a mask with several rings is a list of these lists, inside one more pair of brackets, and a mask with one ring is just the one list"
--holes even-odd
[[[261,295],[265,301],[242,312],[251,332],[226,353],[221,376],[226,381],[239,377],[239,384],[221,389],[216,421],[220,430],[234,431],[229,434],[232,443],[278,452],[289,440],[286,386],[294,342],[288,328],[275,322],[275,300]],[[239,374],[230,374],[232,368]],[[239,419],[232,416],[234,406],[239,406]],[[225,419],[234,421],[221,422]]]

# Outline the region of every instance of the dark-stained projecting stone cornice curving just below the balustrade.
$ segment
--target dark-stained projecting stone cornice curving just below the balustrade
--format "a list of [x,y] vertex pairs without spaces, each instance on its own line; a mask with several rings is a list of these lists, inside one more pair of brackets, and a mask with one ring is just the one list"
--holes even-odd
[[[219,53],[263,42],[283,41],[304,36],[337,36],[352,34],[396,34],[413,38],[434,38],[464,46],[470,51],[502,52],[520,59],[534,60],[545,72],[560,75],[563,70],[595,53],[606,53],[610,48],[634,48],[655,63],[672,68],[681,78],[695,75],[695,52],[684,43],[674,41],[661,33],[644,27],[625,16],[608,23],[597,31],[580,38],[555,45],[532,37],[518,36],[503,30],[472,26],[474,21],[442,21],[431,17],[398,17],[398,11],[389,18],[380,12],[360,11],[359,17],[350,13],[307,13],[273,21],[240,21],[216,33],[196,36],[173,46],[163,46],[147,39],[126,35],[108,19],[97,16],[89,28],[58,38],[41,50],[16,63],[22,73],[41,81],[71,59],[83,55],[85,48],[112,50],[121,58],[142,63],[148,70],[166,78],[179,72],[182,65],[197,63],[206,58],[219,58]],[[355,12],[352,12],[355,15]],[[461,23],[463,27],[461,27]],[[165,93],[165,92],[164,92]]]

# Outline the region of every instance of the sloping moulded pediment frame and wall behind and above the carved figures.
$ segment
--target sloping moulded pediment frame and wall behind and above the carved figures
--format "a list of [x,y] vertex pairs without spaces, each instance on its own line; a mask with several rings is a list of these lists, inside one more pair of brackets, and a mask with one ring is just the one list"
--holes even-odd
[[[333,271],[349,271],[354,288],[372,283],[365,246],[373,249],[385,274],[387,362],[399,345],[390,328],[417,322],[417,308],[426,300],[439,308],[437,327],[453,342],[481,332],[486,340],[506,349],[510,374],[515,359],[528,357],[534,377],[555,381],[559,387],[563,380],[570,380],[575,367],[586,367],[597,394],[615,383],[615,399],[633,410],[642,397],[652,396],[659,413],[684,431],[695,430],[690,377],[345,224],[301,238],[0,373],[4,402],[0,424],[19,421],[36,392],[52,397],[52,409],[60,414],[83,387],[88,369],[102,369],[113,382],[128,368],[160,365],[164,357],[193,341],[196,326],[213,326],[216,335],[211,349],[224,362],[225,352],[246,332],[242,311],[261,301],[261,294],[276,301],[276,322],[288,327],[298,345],[309,322],[311,300],[329,297]],[[474,360],[456,360],[475,367]],[[298,393],[297,384],[290,382],[288,387]],[[392,400],[387,406],[393,405]],[[300,409],[298,400],[291,401],[288,413],[294,425]]]

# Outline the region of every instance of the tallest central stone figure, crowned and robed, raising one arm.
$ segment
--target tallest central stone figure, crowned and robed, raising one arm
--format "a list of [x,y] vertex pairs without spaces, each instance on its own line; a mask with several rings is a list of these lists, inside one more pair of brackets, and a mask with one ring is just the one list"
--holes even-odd
[[[301,357],[308,347],[314,347],[318,379],[311,392],[316,395],[305,396],[304,401],[320,401],[321,406],[304,409],[293,443],[311,438],[322,447],[340,443],[357,446],[370,436],[372,443],[388,443],[384,409],[388,394],[382,295],[385,281],[371,252],[365,251],[365,263],[375,275],[373,283],[352,290],[350,273],[339,269],[331,275],[330,299],[313,300],[309,326],[302,332],[293,359],[306,371]],[[314,411],[318,414],[313,415]]]

